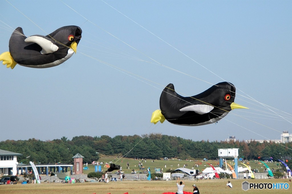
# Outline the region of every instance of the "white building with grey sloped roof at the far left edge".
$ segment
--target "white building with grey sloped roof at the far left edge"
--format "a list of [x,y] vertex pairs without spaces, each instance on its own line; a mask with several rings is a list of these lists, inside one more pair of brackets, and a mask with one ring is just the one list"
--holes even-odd
[[17,156],[22,154],[0,149],[0,175],[16,175]]

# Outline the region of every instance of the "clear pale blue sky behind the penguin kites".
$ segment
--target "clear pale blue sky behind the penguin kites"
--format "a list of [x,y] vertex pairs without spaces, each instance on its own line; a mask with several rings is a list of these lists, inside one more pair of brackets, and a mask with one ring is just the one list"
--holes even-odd
[[[291,1],[0,4],[1,53],[19,26],[26,36],[67,25],[83,31],[77,54],[59,66],[0,66],[0,141],[149,133],[274,140],[292,133]],[[235,85],[235,102],[249,110],[205,126],[150,123],[167,84],[193,96],[222,81]]]

